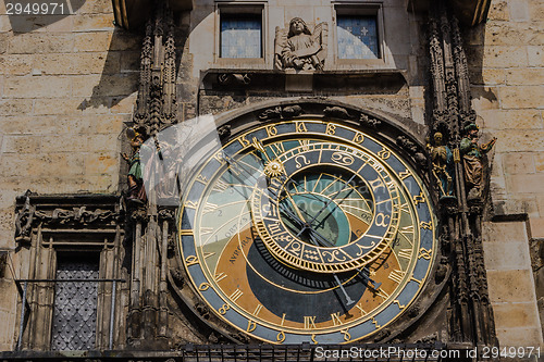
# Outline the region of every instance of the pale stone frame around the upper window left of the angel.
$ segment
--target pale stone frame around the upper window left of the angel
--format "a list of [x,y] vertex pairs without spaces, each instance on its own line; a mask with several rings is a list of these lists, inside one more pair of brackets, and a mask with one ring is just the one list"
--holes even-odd
[[[221,58],[221,13],[261,13],[261,57],[260,58]],[[220,68],[265,68],[269,53],[268,39],[268,3],[265,1],[215,0],[215,32],[213,48],[213,66]]]

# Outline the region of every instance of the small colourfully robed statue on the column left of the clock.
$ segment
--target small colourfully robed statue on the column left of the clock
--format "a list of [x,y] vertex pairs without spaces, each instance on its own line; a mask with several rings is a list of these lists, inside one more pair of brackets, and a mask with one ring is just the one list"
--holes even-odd
[[127,175],[128,199],[144,202],[147,199],[140,162],[140,147],[144,143],[144,136],[135,132],[133,128],[128,128],[126,135],[131,140],[133,155],[128,157],[126,153],[122,153],[121,155],[126,162],[128,162],[129,165]]

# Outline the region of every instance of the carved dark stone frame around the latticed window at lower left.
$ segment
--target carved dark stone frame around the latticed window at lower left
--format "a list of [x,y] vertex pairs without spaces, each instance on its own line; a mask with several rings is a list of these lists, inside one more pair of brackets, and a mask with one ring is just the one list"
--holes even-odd
[[[121,274],[125,276],[121,272],[120,260],[124,233],[119,223],[119,197],[26,195],[18,197],[16,203],[17,219],[24,215],[21,220],[24,226],[17,230],[17,259],[21,264],[15,274],[18,275],[20,289],[26,284],[26,303],[23,307],[25,292],[21,292],[17,324],[22,316],[24,322],[23,329],[17,330],[15,350],[51,351],[55,283],[46,280],[57,278],[58,254],[92,252],[99,261],[99,279],[119,278]],[[113,288],[118,295],[114,301],[114,333],[110,321]],[[121,298],[126,299],[126,288],[127,283],[98,283],[94,350],[124,344],[126,315]]]

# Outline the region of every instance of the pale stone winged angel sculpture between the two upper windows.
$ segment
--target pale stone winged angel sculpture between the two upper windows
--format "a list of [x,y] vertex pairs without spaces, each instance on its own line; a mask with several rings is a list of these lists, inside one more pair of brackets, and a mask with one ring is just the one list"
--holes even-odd
[[300,17],[289,22],[288,33],[276,27],[276,66],[283,70],[322,70],[326,58],[326,23],[320,23],[312,34]]

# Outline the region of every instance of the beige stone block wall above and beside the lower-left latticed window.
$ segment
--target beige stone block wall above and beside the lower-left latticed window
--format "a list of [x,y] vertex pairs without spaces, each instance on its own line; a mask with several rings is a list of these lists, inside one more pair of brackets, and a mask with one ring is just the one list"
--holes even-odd
[[[27,189],[119,191],[141,38],[114,27],[110,0],[69,3],[72,15],[27,17],[4,15],[0,1],[0,250],[16,247],[15,197]],[[13,349],[18,329],[10,270],[0,279],[0,350]]]

